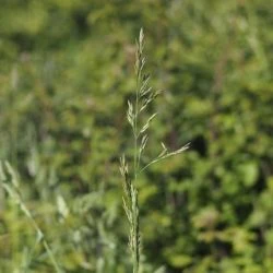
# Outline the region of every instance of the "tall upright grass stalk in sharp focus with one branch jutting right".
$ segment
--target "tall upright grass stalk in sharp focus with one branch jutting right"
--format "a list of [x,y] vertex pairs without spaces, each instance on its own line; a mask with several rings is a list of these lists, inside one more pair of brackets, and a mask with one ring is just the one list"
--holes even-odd
[[136,188],[138,177],[151,165],[182,153],[189,147],[189,143],[176,151],[168,151],[166,145],[162,143],[162,152],[159,155],[142,166],[142,154],[149,141],[149,128],[157,112],[152,114],[147,119],[143,119],[143,114],[147,110],[149,105],[152,104],[162,92],[154,91],[154,88],[150,86],[150,76],[144,71],[144,33],[142,28],[135,44],[136,87],[133,102],[128,100],[127,111],[127,119],[132,129],[132,139],[134,143],[133,163],[129,164],[127,156],[122,155],[120,158],[120,173],[123,177],[123,207],[130,225],[129,248],[132,258],[132,271],[133,273],[139,273],[141,272],[141,232],[139,194]]

